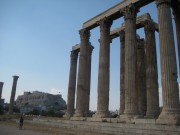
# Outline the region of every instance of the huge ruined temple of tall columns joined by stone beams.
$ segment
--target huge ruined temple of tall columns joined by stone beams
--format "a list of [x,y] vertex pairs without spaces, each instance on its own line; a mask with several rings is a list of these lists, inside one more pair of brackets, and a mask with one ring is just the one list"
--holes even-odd
[[[137,16],[142,7],[153,4],[154,1],[157,6],[158,22],[154,22],[149,13]],[[85,22],[79,31],[80,43],[73,46],[71,51],[66,117],[72,121],[110,120],[110,43],[114,38],[120,37],[120,114],[118,118],[111,119],[111,122],[115,120],[117,123],[136,123],[138,119],[153,119],[155,124],[159,125],[179,125],[180,100],[172,16],[175,18],[180,50],[180,0],[124,0]],[[111,31],[112,22],[121,17],[124,17],[124,23]],[[87,118],[91,55],[94,49],[89,38],[90,31],[95,27],[100,27],[97,111],[92,117]],[[144,28],[145,40],[136,34],[139,28]],[[162,112],[159,108],[155,31],[159,32]],[[76,78],[78,78],[77,97],[75,97]]]

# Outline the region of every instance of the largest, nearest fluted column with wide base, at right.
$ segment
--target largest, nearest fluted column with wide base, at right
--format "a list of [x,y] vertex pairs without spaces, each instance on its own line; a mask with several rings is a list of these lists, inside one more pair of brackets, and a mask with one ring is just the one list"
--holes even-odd
[[180,124],[179,88],[170,0],[156,0],[158,8],[163,109],[157,124]]

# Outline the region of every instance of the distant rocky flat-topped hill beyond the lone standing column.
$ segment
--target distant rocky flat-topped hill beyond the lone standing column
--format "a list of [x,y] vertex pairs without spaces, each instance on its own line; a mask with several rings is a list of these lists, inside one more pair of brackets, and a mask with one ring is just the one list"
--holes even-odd
[[55,110],[60,111],[66,109],[66,102],[60,94],[52,95],[49,93],[34,91],[24,92],[24,95],[18,96],[16,106],[21,113],[28,113],[33,109],[38,111]]

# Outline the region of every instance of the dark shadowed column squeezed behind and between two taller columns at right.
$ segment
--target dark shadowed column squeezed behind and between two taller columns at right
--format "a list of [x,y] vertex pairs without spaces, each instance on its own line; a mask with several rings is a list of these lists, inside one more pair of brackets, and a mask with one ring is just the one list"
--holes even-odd
[[138,112],[146,114],[146,65],[144,39],[137,39],[136,92],[138,94]]

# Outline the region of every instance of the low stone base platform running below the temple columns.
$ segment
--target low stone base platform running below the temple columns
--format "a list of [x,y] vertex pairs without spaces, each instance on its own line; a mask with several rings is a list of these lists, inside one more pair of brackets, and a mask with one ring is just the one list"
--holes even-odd
[[118,123],[118,119],[119,118],[107,118],[107,121],[93,121],[86,118],[86,121],[79,121],[35,118],[29,122],[111,135],[180,135],[180,126],[156,125],[154,119],[135,119],[134,124]]

